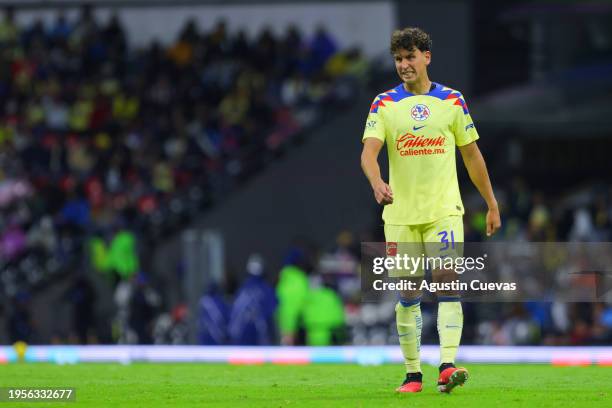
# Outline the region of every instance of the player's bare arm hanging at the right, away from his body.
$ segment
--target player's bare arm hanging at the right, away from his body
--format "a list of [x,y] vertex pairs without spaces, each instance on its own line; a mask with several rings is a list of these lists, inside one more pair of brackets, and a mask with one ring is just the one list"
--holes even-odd
[[493,187],[491,187],[487,165],[476,142],[459,146],[459,151],[472,183],[474,183],[489,207],[487,211],[487,236],[491,236],[501,227],[501,219],[499,217],[497,200],[493,194]]

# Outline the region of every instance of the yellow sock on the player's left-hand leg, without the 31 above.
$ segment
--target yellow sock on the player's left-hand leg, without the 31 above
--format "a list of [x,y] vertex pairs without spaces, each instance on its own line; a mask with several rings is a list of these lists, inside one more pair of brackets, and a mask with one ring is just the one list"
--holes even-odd
[[400,302],[395,306],[395,320],[397,323],[397,334],[399,336],[400,348],[404,355],[407,373],[421,372],[421,329],[423,318],[421,317],[421,303],[403,306]]

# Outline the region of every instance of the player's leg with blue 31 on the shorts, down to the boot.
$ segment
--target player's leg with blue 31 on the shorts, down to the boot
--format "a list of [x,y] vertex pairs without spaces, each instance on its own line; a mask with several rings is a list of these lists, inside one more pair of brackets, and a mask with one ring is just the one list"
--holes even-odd
[[[463,219],[450,216],[431,223],[424,231],[428,257],[462,256]],[[436,268],[432,271],[436,283],[452,283],[457,274],[452,269]],[[457,349],[463,331],[463,310],[460,294],[456,290],[438,291],[438,336],[440,338],[440,377],[438,389],[451,392],[463,385],[468,378],[467,370],[455,367]]]

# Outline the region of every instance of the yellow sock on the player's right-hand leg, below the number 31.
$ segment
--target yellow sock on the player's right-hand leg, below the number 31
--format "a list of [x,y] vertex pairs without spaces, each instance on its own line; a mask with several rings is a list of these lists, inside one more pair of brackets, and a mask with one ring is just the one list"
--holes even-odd
[[461,302],[438,302],[440,363],[455,363],[462,330],[463,309],[461,308]]

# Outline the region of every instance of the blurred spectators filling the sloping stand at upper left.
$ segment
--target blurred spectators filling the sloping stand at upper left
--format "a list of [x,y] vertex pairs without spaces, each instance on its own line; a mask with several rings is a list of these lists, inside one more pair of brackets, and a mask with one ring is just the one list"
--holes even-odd
[[0,21],[0,291],[11,327],[56,276],[137,279],[143,246],[276,158],[368,70],[322,27],[247,38],[223,21],[206,32],[188,21],[173,43],[134,49],[117,15],[102,22],[90,6],[49,25],[19,25],[18,12]]

